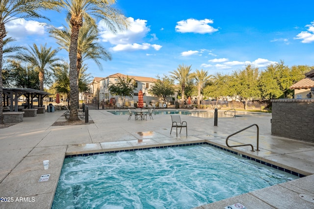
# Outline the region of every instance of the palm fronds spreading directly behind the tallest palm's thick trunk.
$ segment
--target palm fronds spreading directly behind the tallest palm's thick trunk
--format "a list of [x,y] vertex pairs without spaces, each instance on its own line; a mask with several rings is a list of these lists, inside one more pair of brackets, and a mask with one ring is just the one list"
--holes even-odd
[[[70,23],[69,23],[70,25]],[[65,49],[69,52],[71,43],[71,25],[70,28],[64,26],[64,29],[55,27],[50,28],[51,36],[57,40],[59,48]],[[103,66],[99,62],[102,60],[111,60],[111,54],[101,46],[98,40],[98,29],[95,25],[84,22],[78,34],[78,52],[77,52],[77,72],[82,67],[82,63],[86,59],[92,59],[97,66],[102,70]]]

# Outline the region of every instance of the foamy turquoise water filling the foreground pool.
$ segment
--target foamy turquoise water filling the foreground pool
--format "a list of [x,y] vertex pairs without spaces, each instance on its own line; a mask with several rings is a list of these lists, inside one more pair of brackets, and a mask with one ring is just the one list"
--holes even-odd
[[52,209],[190,209],[297,178],[206,144],[66,158]]

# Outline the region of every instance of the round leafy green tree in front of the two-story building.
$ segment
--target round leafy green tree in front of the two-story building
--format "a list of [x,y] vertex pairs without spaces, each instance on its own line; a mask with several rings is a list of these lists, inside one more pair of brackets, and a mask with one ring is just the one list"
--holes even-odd
[[131,98],[133,98],[133,92],[136,89],[135,85],[136,82],[133,78],[130,78],[129,76],[125,78],[119,76],[116,83],[109,84],[108,90],[111,95],[119,96],[124,103],[126,96],[130,96]]

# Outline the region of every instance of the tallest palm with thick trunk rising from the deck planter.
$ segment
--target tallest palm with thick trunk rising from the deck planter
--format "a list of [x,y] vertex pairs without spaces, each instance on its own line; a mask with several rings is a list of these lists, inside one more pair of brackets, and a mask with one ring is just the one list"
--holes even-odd
[[84,20],[95,23],[92,16],[103,21],[109,30],[116,33],[128,27],[127,19],[117,9],[111,7],[116,0],[59,0],[68,14],[71,24],[71,41],[69,46],[70,60],[70,117],[69,120],[78,119],[78,73],[77,52],[79,30]]

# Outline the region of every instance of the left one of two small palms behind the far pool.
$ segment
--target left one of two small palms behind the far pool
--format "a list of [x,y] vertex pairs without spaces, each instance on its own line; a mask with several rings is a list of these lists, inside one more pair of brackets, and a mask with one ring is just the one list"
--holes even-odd
[[190,74],[191,66],[192,65],[190,65],[190,66],[184,66],[184,64],[179,65],[177,70],[170,72],[172,74],[172,75],[170,75],[170,77],[177,80],[179,82],[179,85],[181,86],[181,90],[182,90],[181,105],[182,105],[182,107],[184,107],[184,88],[185,88],[187,80],[191,76],[191,74]]

